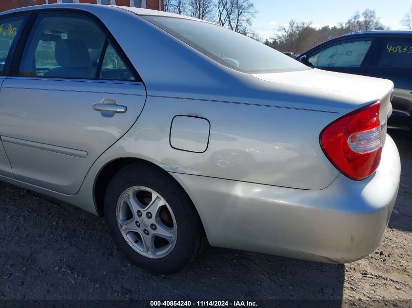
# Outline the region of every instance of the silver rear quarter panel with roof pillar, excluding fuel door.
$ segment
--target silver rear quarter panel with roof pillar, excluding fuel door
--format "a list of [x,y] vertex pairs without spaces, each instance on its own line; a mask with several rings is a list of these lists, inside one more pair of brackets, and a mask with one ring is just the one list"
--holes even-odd
[[[117,15],[133,27],[120,27]],[[262,81],[223,67],[130,12],[102,11],[99,17],[148,94],[135,126],[109,150],[111,159],[135,155],[169,172],[301,189],[334,181],[338,171],[323,154],[319,133],[353,109],[348,102],[365,103],[363,97]],[[210,122],[204,153],[171,147],[176,115]]]

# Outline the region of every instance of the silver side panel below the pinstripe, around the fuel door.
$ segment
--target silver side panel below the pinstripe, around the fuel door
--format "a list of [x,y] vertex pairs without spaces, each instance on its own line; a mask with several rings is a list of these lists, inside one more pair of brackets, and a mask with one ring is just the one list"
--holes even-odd
[[[204,153],[169,144],[170,123],[179,114],[198,114],[210,122]],[[316,190],[338,175],[318,141],[319,132],[336,116],[148,96],[139,120],[116,146],[169,172]]]

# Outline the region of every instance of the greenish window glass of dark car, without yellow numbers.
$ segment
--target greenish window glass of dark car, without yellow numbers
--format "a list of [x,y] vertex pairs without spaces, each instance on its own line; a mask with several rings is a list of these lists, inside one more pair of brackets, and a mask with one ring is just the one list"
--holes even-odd
[[314,67],[359,67],[371,45],[371,39],[335,44],[311,55],[308,64]]

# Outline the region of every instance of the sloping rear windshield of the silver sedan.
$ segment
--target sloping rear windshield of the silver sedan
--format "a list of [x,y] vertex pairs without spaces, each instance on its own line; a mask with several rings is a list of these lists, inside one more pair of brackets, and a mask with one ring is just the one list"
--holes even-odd
[[209,22],[163,16],[142,17],[216,62],[236,71],[259,73],[308,69],[269,46]]

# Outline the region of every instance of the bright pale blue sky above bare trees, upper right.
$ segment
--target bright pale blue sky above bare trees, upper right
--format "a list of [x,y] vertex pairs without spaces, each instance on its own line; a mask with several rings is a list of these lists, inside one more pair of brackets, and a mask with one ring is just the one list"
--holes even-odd
[[412,6],[412,0],[254,0],[258,11],[253,28],[264,38],[273,36],[279,25],[291,18],[312,21],[314,27],[345,22],[355,11],[376,11],[383,24],[402,29],[400,20]]

